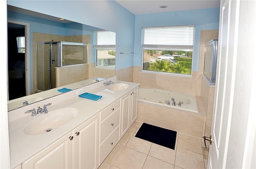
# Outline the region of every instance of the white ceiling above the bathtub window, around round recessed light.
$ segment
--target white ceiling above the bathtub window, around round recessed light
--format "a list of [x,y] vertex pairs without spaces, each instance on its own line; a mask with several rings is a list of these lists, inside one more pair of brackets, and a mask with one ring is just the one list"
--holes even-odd
[[[135,15],[219,8],[220,0],[115,0]],[[159,6],[167,6],[160,8]]]

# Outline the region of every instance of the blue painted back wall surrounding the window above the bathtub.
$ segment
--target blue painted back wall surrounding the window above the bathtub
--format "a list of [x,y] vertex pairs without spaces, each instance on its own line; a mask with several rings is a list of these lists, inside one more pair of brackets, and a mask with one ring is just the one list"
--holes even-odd
[[136,15],[134,40],[134,66],[142,65],[142,27],[196,25],[193,55],[193,71],[198,71],[200,31],[219,29],[220,8],[163,12]]

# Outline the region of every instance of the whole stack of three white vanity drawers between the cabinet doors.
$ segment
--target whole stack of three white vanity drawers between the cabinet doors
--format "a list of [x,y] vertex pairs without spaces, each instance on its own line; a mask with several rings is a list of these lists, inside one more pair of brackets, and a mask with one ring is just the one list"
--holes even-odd
[[119,141],[120,99],[100,112],[99,165]]

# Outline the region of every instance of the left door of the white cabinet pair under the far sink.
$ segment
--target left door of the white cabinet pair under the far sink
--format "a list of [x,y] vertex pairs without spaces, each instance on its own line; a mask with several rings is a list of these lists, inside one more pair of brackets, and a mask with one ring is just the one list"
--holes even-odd
[[120,138],[130,127],[130,92],[121,98]]

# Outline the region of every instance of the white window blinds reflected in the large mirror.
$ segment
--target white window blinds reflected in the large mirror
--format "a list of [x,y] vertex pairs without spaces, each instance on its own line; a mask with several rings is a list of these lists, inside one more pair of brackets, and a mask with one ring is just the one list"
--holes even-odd
[[112,31],[94,31],[96,33],[95,48],[116,47],[116,33]]

